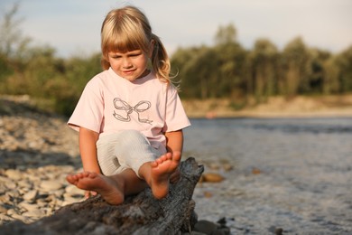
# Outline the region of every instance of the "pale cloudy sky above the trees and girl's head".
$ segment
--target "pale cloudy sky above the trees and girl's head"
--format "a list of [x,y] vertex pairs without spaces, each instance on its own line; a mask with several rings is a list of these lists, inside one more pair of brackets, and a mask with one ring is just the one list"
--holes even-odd
[[105,16],[125,5],[143,10],[170,54],[179,47],[213,45],[218,27],[228,24],[245,49],[265,38],[282,50],[299,36],[329,52],[352,45],[351,0],[1,0],[0,20],[16,2],[23,35],[50,45],[60,57],[99,52]]

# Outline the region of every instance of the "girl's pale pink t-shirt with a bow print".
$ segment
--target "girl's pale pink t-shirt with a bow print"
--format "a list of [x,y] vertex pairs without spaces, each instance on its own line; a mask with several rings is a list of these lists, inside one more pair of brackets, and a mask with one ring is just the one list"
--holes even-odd
[[139,130],[158,149],[166,146],[163,133],[189,127],[190,120],[177,90],[153,72],[129,81],[110,68],[88,81],[68,125],[78,131],[88,128],[100,136]]

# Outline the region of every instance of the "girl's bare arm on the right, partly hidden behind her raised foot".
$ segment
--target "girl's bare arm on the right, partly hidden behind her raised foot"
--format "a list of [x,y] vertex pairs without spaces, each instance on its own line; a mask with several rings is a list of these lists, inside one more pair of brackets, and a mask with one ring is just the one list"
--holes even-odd
[[[183,149],[183,131],[177,130],[172,132],[166,132],[166,148],[167,151],[171,154],[173,152],[180,152],[182,154]],[[171,183],[176,183],[180,179],[180,170],[171,174],[170,181]]]

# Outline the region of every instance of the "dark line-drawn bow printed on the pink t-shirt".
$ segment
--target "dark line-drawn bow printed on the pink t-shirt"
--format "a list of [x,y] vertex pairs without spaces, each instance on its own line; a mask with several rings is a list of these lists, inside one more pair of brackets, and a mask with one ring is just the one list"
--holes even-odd
[[149,101],[146,101],[146,100],[139,101],[138,104],[136,104],[134,107],[132,107],[126,101],[119,99],[119,98],[116,98],[116,99],[114,99],[114,106],[117,110],[125,110],[125,112],[126,112],[126,117],[123,117],[119,114],[116,114],[116,111],[114,110],[113,115],[117,120],[129,122],[129,121],[131,121],[130,114],[133,111],[135,111],[138,115],[139,122],[148,123],[148,124],[151,124],[153,122],[153,120],[140,118],[140,113],[151,108],[152,105],[151,105],[151,102],[149,102]]

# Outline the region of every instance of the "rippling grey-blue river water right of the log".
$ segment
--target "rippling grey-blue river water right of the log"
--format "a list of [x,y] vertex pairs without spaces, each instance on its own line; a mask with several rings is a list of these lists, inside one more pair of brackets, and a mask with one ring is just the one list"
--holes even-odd
[[233,234],[352,234],[352,118],[191,119],[184,156],[232,164],[199,183],[199,220]]

